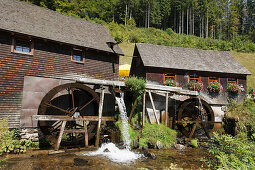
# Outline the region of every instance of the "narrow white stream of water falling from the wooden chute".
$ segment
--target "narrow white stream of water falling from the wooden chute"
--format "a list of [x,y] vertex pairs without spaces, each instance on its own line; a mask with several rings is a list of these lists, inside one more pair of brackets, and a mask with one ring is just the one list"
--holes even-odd
[[127,117],[127,111],[126,106],[124,102],[124,94],[120,93],[120,97],[115,96],[115,99],[117,101],[119,112],[120,112],[120,119],[122,122],[122,136],[123,136],[123,142],[124,146],[130,150],[130,135],[128,132],[128,117]]

